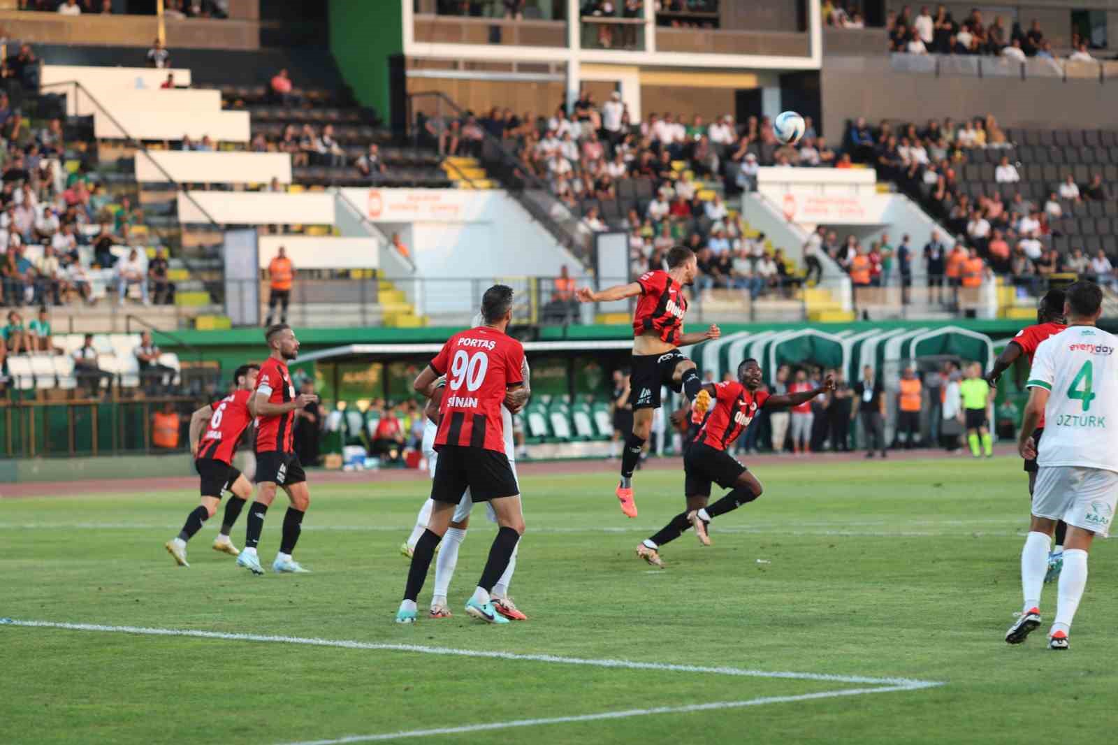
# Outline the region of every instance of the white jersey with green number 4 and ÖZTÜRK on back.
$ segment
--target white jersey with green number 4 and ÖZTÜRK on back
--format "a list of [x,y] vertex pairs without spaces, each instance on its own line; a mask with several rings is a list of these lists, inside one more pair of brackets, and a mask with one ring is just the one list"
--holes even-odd
[[1093,326],[1068,327],[1036,348],[1027,385],[1050,392],[1038,465],[1118,471],[1116,348],[1118,337]]

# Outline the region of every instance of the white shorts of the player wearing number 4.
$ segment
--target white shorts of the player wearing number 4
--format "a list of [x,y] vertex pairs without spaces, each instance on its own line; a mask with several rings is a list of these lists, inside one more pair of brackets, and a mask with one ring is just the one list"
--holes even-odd
[[1042,465],[1033,488],[1033,515],[1063,520],[1103,538],[1118,504],[1118,473],[1079,465]]

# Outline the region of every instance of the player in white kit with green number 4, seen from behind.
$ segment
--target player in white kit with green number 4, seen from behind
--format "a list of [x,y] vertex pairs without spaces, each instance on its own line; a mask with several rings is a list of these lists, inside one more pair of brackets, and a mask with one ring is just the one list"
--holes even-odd
[[[1032,524],[1021,551],[1025,604],[1005,641],[1018,644],[1040,626],[1041,587],[1057,520],[1068,524],[1051,649],[1068,649],[1068,632],[1087,585],[1087,554],[1107,537],[1118,503],[1118,337],[1096,328],[1102,291],[1093,282],[1065,290],[1068,328],[1042,341],[1029,374],[1029,404],[1017,447],[1036,458]],[[1032,432],[1044,414],[1039,452]]]

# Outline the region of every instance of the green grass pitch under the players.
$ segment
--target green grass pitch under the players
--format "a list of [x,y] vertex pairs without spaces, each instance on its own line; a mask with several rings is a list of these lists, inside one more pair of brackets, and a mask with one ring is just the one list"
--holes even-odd
[[[315,485],[312,474],[297,557],[313,574],[302,576],[236,568],[209,548],[217,519],[191,541],[191,567],[176,567],[162,544],[197,503],[193,489],[2,500],[0,616],[368,644],[0,625],[0,742],[271,745],[397,733],[580,745],[1111,739],[1111,546],[1099,541],[1092,553],[1070,652],[1044,647],[1052,585],[1041,631],[1022,647],[1002,641],[1021,604],[1029,503],[1018,460],[759,465],[761,499],[720,518],[710,548],[690,532],[669,545],[664,570],[633,549],[682,509],[682,472],[639,473],[641,517],[626,520],[612,470],[522,478],[529,532],[512,596],[530,621],[501,628],[461,610],[493,536],[482,510],[451,587],[455,617],[392,623],[407,570],[398,546],[425,482]],[[268,516],[266,564],[282,509]],[[243,539],[244,516],[234,530]],[[391,648],[406,644],[428,649]],[[855,681],[862,677],[942,685],[873,692],[890,683]],[[705,702],[739,706],[675,710]],[[534,724],[616,713],[629,716]],[[533,724],[505,728],[511,722]],[[501,728],[417,732],[468,725]]]

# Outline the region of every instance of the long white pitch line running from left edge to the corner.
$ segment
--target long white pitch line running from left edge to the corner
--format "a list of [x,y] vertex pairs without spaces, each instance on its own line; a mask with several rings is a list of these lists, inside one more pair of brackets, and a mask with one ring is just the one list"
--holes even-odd
[[416,652],[420,654],[444,654],[453,657],[481,657],[498,660],[518,660],[527,662],[548,662],[552,664],[586,664],[596,668],[623,668],[628,670],[659,670],[662,672],[699,672],[719,676],[742,676],[748,678],[783,678],[788,680],[822,680],[830,682],[865,683],[877,686],[898,686],[910,689],[941,686],[939,682],[915,680],[911,678],[870,678],[865,676],[836,676],[822,672],[780,672],[768,670],[748,670],[743,668],[703,667],[695,664],[670,664],[665,662],[637,662],[634,660],[585,659],[578,657],[559,657],[556,654],[518,654],[515,652],[498,652],[492,650],[454,649],[451,647],[425,647],[421,644],[391,644],[385,642],[363,642],[344,639],[318,639],[313,636],[280,636],[266,634],[230,633],[225,631],[200,631],[196,629],[150,629],[145,626],[112,626],[96,623],[64,623],[56,621],[23,621],[20,619],[0,619],[0,626],[28,626],[35,629],[65,629],[68,631],[100,631],[107,633],[145,634],[150,636],[191,636],[196,639],[221,639],[225,641],[272,642],[281,644],[306,644],[310,647],[338,647],[341,649],[388,650],[397,652]]

